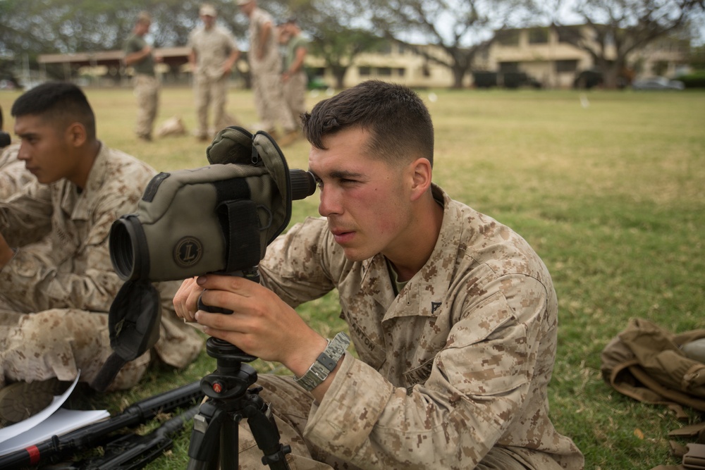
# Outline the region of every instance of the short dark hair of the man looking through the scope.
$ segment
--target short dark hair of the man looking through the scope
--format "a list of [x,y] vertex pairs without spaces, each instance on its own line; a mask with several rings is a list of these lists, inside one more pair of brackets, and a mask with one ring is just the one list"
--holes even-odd
[[390,161],[422,156],[434,163],[434,125],[431,113],[409,87],[368,80],[319,101],[302,114],[304,134],[318,149],[326,135],[347,128],[370,133],[368,150]]

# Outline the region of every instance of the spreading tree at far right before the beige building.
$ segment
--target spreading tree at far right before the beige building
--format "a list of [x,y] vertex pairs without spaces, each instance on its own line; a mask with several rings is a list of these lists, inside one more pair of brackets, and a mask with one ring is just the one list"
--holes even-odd
[[562,41],[592,57],[603,86],[614,89],[635,49],[687,25],[703,6],[703,0],[583,0],[572,11],[584,25],[553,18],[553,27]]

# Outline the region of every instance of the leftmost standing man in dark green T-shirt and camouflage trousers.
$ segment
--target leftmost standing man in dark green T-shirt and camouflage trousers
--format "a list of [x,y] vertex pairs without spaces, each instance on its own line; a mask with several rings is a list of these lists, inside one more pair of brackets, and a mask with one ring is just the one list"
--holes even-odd
[[137,16],[137,23],[133,35],[125,42],[123,61],[125,66],[135,70],[135,96],[137,97],[137,137],[149,142],[152,140],[154,118],[157,117],[159,106],[159,80],[154,73],[154,62],[159,60],[154,57],[152,46],[145,41],[145,35],[152,25],[149,13],[143,11]]

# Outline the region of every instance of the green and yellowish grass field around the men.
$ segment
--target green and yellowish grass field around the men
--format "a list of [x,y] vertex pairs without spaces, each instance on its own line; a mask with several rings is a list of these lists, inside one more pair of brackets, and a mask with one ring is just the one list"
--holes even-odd
[[[139,142],[129,90],[88,89],[99,137],[159,171],[207,164],[190,135]],[[559,346],[551,416],[584,452],[587,469],[676,464],[665,407],[623,397],[601,379],[600,353],[630,319],[672,330],[705,328],[705,92],[420,92],[436,125],[434,180],[451,196],[523,235],[551,271],[559,299]],[[0,92],[6,130],[15,92]],[[312,106],[319,97],[309,97]],[[252,94],[233,89],[228,110],[250,127]],[[195,127],[189,89],[164,89],[159,123]],[[307,144],[284,149],[306,168]],[[294,204],[293,221],[317,214],[317,197]],[[334,295],[299,309],[323,333],[344,328]],[[214,368],[202,354],[184,371],[157,366],[125,393],[83,397],[121,407]],[[276,364],[257,363],[260,371]],[[699,414],[691,419],[698,421]],[[189,435],[149,469],[184,468]]]

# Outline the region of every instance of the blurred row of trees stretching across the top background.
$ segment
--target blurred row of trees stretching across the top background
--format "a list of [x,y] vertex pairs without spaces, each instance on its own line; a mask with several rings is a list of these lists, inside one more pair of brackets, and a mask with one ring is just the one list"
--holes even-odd
[[[704,10],[705,0],[583,0],[570,3],[576,28],[556,12],[570,0],[259,0],[277,20],[296,16],[312,39],[312,54],[333,70],[338,86],[357,54],[382,41],[405,44],[428,61],[448,67],[453,87],[462,87],[474,58],[488,48],[494,32],[530,25],[529,14],[541,12],[563,40],[587,51],[603,70],[606,85],[638,47],[687,25]],[[68,54],[121,49],[137,13],[152,14],[155,47],[183,46],[200,24],[195,0],[0,0],[0,74],[12,66],[37,67],[40,54]],[[227,0],[211,0],[219,23],[243,44],[247,18]],[[548,18],[548,20],[546,20]],[[546,23],[544,23],[545,25]],[[431,54],[423,44],[446,55]],[[616,51],[613,59],[610,48]]]

